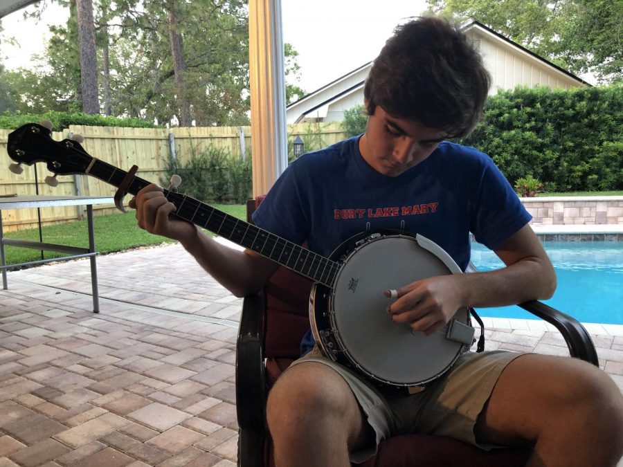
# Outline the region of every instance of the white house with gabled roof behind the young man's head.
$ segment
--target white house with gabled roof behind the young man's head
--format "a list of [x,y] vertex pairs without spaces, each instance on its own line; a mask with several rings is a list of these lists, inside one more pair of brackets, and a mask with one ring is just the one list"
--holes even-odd
[[[464,32],[482,54],[491,73],[491,94],[518,85],[543,85],[552,89],[590,86],[478,21],[464,26]],[[363,104],[363,82],[371,66],[372,62],[368,62],[293,102],[286,109],[287,122],[340,122],[346,109]]]

